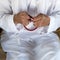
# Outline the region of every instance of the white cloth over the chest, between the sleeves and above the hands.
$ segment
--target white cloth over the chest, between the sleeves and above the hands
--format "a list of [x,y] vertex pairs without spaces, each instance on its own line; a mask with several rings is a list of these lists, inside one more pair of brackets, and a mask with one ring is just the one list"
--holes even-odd
[[13,14],[19,13],[21,11],[27,11],[30,8],[30,13],[47,14],[48,10],[52,8],[52,0],[12,0],[11,1]]

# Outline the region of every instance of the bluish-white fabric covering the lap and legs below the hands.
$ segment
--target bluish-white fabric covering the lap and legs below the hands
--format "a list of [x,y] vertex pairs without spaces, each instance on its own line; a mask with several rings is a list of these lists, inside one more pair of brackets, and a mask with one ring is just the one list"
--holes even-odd
[[60,57],[60,42],[54,33],[40,35],[26,31],[4,33],[2,37],[2,48],[8,52],[6,60],[57,60]]

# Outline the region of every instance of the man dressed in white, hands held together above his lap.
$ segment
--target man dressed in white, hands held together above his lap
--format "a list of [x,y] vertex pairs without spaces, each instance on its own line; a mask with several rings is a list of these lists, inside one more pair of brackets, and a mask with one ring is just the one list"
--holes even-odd
[[[7,52],[7,60],[33,60],[34,54],[36,53],[36,58],[39,57],[40,60],[53,60],[56,57],[56,53],[59,51],[59,39],[57,35],[50,34],[49,32],[55,31],[57,28],[60,27],[60,1],[59,0],[4,0],[0,1],[0,28],[4,31],[1,37],[1,44],[3,50]],[[32,40],[24,39],[21,40],[21,36],[26,38],[21,27],[27,26],[30,23],[30,20],[33,22],[34,26],[44,27],[44,33],[48,33],[46,35],[36,35],[31,37]],[[20,29],[17,29],[16,25],[20,24]],[[47,27],[48,26],[48,27]],[[39,28],[40,29],[40,28]],[[19,31],[21,30],[21,31]],[[20,40],[17,34],[13,36],[13,32],[21,32],[20,33]],[[31,31],[32,32],[32,31]],[[8,34],[9,33],[9,34]],[[29,34],[29,33],[28,33]],[[12,36],[10,36],[12,35]],[[13,37],[14,39],[11,40],[10,38]],[[45,51],[37,51],[42,49],[42,47],[38,47],[37,39],[39,38],[38,42],[41,40],[43,42],[48,41],[49,45],[46,44]],[[48,38],[47,38],[48,37]],[[41,38],[41,39],[40,39]],[[50,39],[53,43],[50,44]],[[56,45],[55,46],[55,42]],[[37,45],[36,45],[36,44]],[[36,48],[34,48],[36,45]],[[44,46],[44,43],[41,43]],[[50,49],[51,47],[51,49]],[[40,49],[41,48],[41,49]],[[53,49],[53,50],[52,50]],[[43,48],[44,50],[44,48]],[[33,53],[34,52],[34,53]],[[44,53],[43,53],[44,52]],[[51,53],[50,53],[51,52]],[[42,55],[41,55],[42,54]],[[33,56],[33,57],[32,57]],[[43,57],[43,58],[42,58]],[[38,60],[39,60],[38,59]]]

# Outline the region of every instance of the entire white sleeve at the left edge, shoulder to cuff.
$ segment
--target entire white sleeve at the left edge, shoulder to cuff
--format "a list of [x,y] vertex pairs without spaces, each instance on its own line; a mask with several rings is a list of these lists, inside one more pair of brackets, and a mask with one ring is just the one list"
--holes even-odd
[[15,24],[13,22],[12,7],[9,0],[0,0],[0,28],[10,32],[16,31]]

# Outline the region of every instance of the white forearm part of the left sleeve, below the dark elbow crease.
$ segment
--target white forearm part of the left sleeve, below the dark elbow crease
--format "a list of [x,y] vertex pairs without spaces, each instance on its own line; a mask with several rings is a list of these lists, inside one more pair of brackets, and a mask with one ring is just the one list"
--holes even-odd
[[5,16],[5,20],[4,20],[4,17],[1,20],[1,22],[2,22],[1,27],[7,32],[17,31],[16,26],[13,21],[13,16],[14,15],[8,15],[8,16]]

